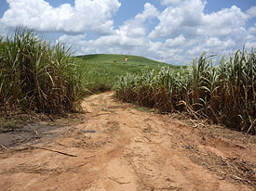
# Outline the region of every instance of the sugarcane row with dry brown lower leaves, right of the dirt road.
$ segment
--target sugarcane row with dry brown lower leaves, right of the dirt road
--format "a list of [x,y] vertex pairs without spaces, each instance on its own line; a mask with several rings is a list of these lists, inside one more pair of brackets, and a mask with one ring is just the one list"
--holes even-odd
[[236,51],[212,66],[203,53],[181,70],[142,70],[115,83],[115,95],[126,102],[163,112],[187,111],[250,134],[256,133],[256,52]]

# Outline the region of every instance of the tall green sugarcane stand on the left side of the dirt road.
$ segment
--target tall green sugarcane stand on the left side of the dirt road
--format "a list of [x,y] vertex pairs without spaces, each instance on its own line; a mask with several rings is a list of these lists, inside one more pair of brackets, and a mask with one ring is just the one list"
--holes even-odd
[[86,94],[70,48],[18,28],[0,40],[0,107],[35,112],[74,110]]

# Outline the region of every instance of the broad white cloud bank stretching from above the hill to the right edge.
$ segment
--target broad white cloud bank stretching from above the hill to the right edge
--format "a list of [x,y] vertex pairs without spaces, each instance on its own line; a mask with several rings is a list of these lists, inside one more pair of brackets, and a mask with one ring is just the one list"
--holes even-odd
[[[205,6],[200,0],[185,0],[159,13],[155,6],[145,4],[140,14],[110,35],[88,41],[82,36],[80,40],[66,36],[65,41],[76,45],[79,54],[130,54],[172,64],[186,64],[204,51],[222,56],[243,45],[255,45],[255,27],[245,28],[249,19],[246,13],[232,6],[205,14]],[[147,35],[145,21],[154,18],[159,23]]]

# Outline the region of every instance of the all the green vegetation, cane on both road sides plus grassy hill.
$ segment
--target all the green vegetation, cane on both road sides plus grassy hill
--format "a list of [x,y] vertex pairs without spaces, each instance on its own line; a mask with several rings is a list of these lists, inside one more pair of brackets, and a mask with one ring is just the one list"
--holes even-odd
[[192,66],[177,67],[125,55],[72,57],[70,47],[21,28],[0,38],[0,108],[6,112],[63,113],[80,106],[87,88],[114,87],[119,99],[140,107],[187,111],[256,134],[255,77],[255,49],[222,57],[217,66],[203,53]]

